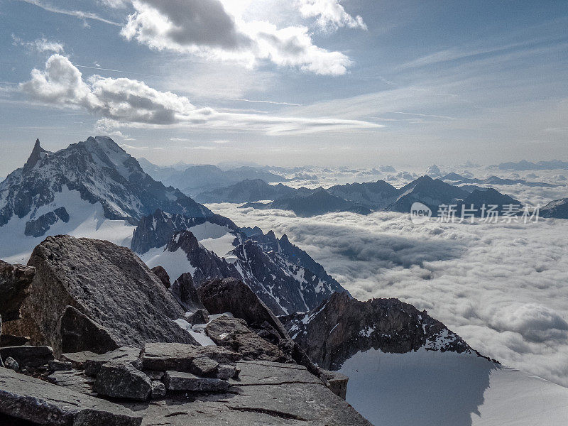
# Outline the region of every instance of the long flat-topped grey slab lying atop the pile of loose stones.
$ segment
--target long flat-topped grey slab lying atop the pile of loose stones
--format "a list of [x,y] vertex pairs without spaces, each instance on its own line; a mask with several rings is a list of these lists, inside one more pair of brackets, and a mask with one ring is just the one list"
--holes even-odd
[[141,354],[145,370],[191,371],[194,359],[207,357],[219,364],[239,361],[242,355],[222,346],[195,346],[180,343],[148,343]]

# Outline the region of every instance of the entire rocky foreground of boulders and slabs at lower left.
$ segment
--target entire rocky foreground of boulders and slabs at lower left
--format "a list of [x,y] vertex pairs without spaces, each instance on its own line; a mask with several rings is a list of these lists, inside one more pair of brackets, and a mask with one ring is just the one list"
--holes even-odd
[[370,424],[249,287],[161,272],[70,236],[0,263],[0,424]]

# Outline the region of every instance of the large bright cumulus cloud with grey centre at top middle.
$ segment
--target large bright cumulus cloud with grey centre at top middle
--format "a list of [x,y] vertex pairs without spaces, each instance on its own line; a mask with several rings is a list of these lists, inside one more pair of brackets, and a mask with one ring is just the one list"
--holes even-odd
[[133,0],[132,4],[135,11],[121,34],[153,49],[249,66],[270,60],[320,75],[342,75],[351,65],[343,53],[314,45],[305,26],[278,28],[268,21],[245,21],[231,15],[219,0]]

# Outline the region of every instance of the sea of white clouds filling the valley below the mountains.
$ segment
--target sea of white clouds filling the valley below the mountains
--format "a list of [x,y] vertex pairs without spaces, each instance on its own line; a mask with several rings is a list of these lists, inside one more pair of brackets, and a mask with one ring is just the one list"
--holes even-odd
[[398,297],[482,354],[568,386],[568,220],[413,224],[391,212],[209,208],[287,234],[359,300]]

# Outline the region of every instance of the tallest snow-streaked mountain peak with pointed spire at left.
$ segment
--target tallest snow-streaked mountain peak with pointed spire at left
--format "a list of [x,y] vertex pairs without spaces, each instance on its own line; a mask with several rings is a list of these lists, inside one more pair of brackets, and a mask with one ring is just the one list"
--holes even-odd
[[82,200],[101,203],[107,219],[133,224],[158,208],[187,217],[212,215],[207,207],[179,190],[153,180],[111,138],[97,136],[55,153],[45,151],[36,141],[26,165],[0,183],[0,199],[5,200],[0,205],[0,226],[14,216],[31,214],[29,234],[40,236],[56,221],[65,222],[65,215],[60,217],[55,211],[35,217],[35,212],[54,202],[55,195],[65,187],[78,191]]

